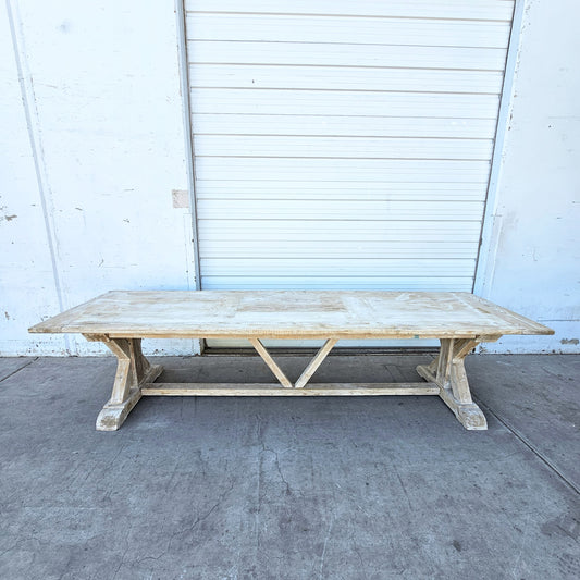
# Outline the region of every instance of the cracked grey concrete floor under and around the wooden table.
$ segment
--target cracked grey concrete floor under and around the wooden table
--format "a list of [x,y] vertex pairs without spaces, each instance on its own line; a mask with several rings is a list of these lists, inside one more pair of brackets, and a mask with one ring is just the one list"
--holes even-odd
[[[332,356],[314,381],[430,358]],[[161,362],[271,381],[254,357]],[[112,358],[0,359],[0,579],[580,578],[580,357],[467,366],[489,431],[439,397],[150,397],[103,433]]]

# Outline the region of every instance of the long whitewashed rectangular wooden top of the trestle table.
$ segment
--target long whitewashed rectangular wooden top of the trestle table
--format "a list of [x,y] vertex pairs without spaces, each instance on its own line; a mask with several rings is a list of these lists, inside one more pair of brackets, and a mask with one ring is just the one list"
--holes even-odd
[[109,292],[29,329],[112,337],[453,338],[554,331],[464,292]]

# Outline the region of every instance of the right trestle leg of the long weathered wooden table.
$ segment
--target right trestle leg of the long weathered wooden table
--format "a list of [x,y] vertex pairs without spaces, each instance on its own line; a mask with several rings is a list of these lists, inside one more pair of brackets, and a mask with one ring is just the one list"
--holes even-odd
[[488,429],[482,410],[473,403],[467,374],[465,357],[480,343],[474,338],[441,340],[437,358],[430,365],[419,365],[417,372],[425,380],[434,382],[439,396],[468,430]]

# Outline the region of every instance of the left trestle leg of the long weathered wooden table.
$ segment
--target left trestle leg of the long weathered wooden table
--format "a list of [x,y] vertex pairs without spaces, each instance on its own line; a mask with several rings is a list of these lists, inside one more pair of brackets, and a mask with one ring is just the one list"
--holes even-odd
[[116,374],[111,398],[97,417],[97,431],[116,431],[141,398],[141,386],[155,381],[163,370],[143,355],[140,338],[89,337],[101,341],[116,356]]

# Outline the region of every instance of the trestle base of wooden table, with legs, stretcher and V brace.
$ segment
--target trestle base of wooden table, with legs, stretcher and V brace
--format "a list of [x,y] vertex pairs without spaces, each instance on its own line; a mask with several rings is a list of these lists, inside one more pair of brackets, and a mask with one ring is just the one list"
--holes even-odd
[[116,338],[108,335],[85,335],[100,341],[118,358],[118,369],[111,398],[97,418],[98,431],[118,430],[141,396],[377,396],[439,395],[468,430],[488,429],[481,409],[473,403],[465,372],[465,357],[482,340],[496,337],[441,340],[439,356],[430,365],[419,365],[417,372],[428,382],[417,383],[314,383],[308,381],[326,358],[336,338],[329,338],[292,383],[277,366],[261,341],[249,341],[279,383],[156,383],[163,368],[151,365],[141,353],[140,338]]

